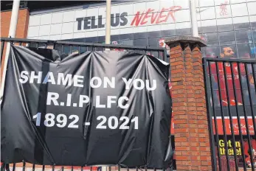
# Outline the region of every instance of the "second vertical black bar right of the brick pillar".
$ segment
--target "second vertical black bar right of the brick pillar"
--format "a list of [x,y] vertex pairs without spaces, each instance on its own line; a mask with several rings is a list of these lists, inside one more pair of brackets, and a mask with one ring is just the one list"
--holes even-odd
[[[215,63],[216,64],[216,63]],[[205,63],[204,63],[205,65]],[[216,146],[217,146],[217,152],[218,152],[218,166],[219,166],[219,169],[221,170],[221,154],[220,154],[220,147],[219,147],[219,139],[218,139],[218,123],[217,123],[217,120],[216,120],[216,113],[215,113],[215,102],[214,102],[214,95],[213,95],[213,91],[212,91],[212,68],[210,67],[210,63],[208,63],[208,69],[209,69],[209,79],[210,79],[210,92],[211,92],[211,98],[212,98],[212,114],[213,114],[213,118],[214,118],[214,125],[215,125],[215,137],[216,137]],[[207,80],[206,80],[206,83],[207,83]],[[209,89],[209,88],[208,88]],[[210,103],[210,97],[207,97],[207,101],[208,103]],[[211,105],[209,105],[211,106]],[[212,116],[210,116],[210,121],[212,121]],[[213,133],[212,133],[213,134]],[[214,142],[212,144],[212,152],[215,154],[215,147],[214,147]],[[215,156],[212,156],[212,158],[215,158]],[[216,165],[217,166],[217,162],[216,162]],[[216,167],[215,167],[216,168]],[[217,169],[215,169],[217,170]]]

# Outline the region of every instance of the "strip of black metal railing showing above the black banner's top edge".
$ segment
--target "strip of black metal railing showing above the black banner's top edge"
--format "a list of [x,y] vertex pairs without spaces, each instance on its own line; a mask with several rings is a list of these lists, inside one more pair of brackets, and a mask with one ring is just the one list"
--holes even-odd
[[116,51],[135,51],[142,54],[153,55],[153,57],[168,62],[167,50],[165,48],[154,48],[151,46],[124,46],[118,44],[84,43],[74,41],[44,41],[23,38],[1,38],[1,59],[4,52],[2,49],[4,49],[5,44],[7,44],[8,42],[35,48],[56,49],[61,53],[66,54],[74,52],[81,54],[87,51],[103,51],[105,49],[111,49]]

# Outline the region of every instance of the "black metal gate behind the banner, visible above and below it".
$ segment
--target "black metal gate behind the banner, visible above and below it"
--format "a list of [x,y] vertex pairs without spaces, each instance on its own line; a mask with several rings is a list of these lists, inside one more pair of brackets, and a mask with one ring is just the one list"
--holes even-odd
[[[1,62],[3,56],[5,54],[5,49],[7,43],[12,43],[19,46],[27,46],[27,47],[34,47],[34,48],[43,48],[43,49],[56,49],[62,54],[81,54],[87,51],[103,51],[105,49],[114,50],[114,51],[135,51],[142,54],[152,55],[153,57],[159,58],[160,60],[164,60],[168,62],[167,58],[167,50],[165,48],[153,48],[151,46],[123,46],[123,45],[116,45],[116,44],[101,44],[101,43],[83,43],[83,42],[74,42],[74,41],[45,41],[45,40],[35,40],[35,39],[21,39],[21,38],[1,38]],[[174,147],[174,146],[173,146]],[[20,169],[17,170],[17,167]],[[70,166],[70,167],[58,167],[58,166],[39,166],[35,164],[28,164],[26,162],[19,163],[19,164],[3,164],[1,163],[1,171],[25,171],[25,170],[42,170],[42,171],[63,171],[63,170],[71,170],[71,171],[93,171],[97,170],[100,171],[102,167],[90,167],[90,166]],[[122,166],[108,166],[108,171],[111,170],[145,170],[147,171],[147,167],[136,167],[136,168],[126,168]],[[153,169],[156,170],[156,169]],[[173,166],[168,169],[163,170],[173,170]]]

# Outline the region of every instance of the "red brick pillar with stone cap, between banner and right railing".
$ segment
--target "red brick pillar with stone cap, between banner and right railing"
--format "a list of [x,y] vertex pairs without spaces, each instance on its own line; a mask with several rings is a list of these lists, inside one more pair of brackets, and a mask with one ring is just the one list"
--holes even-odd
[[170,46],[176,170],[212,170],[200,38],[179,36]]

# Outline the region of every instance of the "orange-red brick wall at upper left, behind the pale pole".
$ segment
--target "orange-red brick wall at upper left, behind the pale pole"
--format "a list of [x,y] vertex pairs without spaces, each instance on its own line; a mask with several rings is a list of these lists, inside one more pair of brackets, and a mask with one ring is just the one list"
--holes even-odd
[[[11,10],[1,12],[1,27],[0,27],[1,28],[1,38],[8,37],[11,15],[12,15]],[[30,19],[29,10],[22,9],[22,10],[18,11],[18,24],[17,24],[15,38],[27,38],[27,29],[28,29],[29,19]],[[1,60],[1,66],[3,66],[2,64],[4,63],[5,47],[6,47],[6,44],[4,46],[4,53],[3,53],[3,58]],[[3,67],[1,67],[1,75],[2,75],[2,69],[3,69]]]

